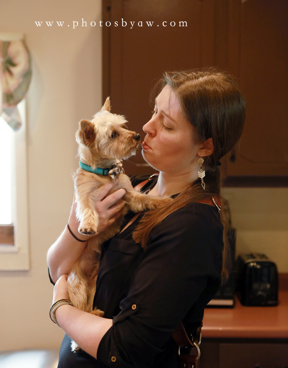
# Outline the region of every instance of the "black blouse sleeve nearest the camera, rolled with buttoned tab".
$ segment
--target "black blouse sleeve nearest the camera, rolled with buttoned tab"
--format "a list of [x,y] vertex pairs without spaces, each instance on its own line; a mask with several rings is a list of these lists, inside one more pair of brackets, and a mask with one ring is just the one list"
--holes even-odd
[[99,344],[99,362],[115,368],[153,366],[193,305],[201,300],[204,311],[217,291],[222,230],[219,221],[211,226],[211,219],[200,216],[197,205],[193,211],[177,210],[154,228],[121,312]]

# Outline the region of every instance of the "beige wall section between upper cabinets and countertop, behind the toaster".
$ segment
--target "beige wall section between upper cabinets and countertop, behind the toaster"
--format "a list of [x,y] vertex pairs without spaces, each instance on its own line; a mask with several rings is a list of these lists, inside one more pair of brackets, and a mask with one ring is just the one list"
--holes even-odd
[[288,189],[225,188],[232,223],[236,228],[236,253],[266,254],[288,272]]

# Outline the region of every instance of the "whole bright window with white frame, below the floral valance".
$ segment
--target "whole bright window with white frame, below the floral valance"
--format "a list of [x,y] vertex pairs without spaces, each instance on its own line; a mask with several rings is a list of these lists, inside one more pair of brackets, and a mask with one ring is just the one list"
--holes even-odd
[[0,119],[0,270],[29,269],[25,100],[18,110],[18,131]]

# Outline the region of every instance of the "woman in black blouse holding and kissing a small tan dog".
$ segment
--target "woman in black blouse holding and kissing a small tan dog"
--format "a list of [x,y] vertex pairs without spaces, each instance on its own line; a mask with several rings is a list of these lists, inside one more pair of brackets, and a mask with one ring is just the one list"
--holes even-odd
[[[221,274],[227,275],[217,165],[239,140],[244,120],[245,100],[229,75],[212,69],[164,74],[142,144],[144,159],[159,176],[142,191],[169,195],[173,204],[145,215],[128,213],[122,231],[103,244],[94,306],[105,311],[105,318],[71,305],[57,309],[57,321],[67,334],[59,367],[177,367],[172,333],[181,321],[188,334],[199,327]],[[203,181],[200,167],[206,172]],[[132,183],[142,180],[134,177]],[[103,186],[95,203],[100,231],[123,206],[123,189],[103,199],[114,185]],[[74,206],[69,225],[79,240],[87,240],[77,232]],[[51,280],[56,282],[53,302],[68,298],[67,274],[85,244],[66,227],[49,249]],[[69,336],[83,352],[70,351]]]

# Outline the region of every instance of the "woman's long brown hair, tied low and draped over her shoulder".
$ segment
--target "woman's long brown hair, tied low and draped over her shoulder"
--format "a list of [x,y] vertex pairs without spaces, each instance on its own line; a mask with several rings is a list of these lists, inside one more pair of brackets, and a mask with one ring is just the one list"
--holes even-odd
[[214,151],[203,157],[206,176],[205,190],[197,179],[183,189],[166,205],[145,213],[133,233],[133,239],[147,247],[151,230],[177,209],[203,199],[217,196],[221,201],[220,216],[224,226],[222,253],[222,280],[229,274],[230,256],[226,230],[229,225],[229,209],[221,196],[221,173],[217,162],[239,141],[245,121],[246,104],[232,77],[214,68],[193,71],[165,72],[154,91],[158,93],[169,85],[178,98],[183,116],[193,125],[196,142],[213,140]]

